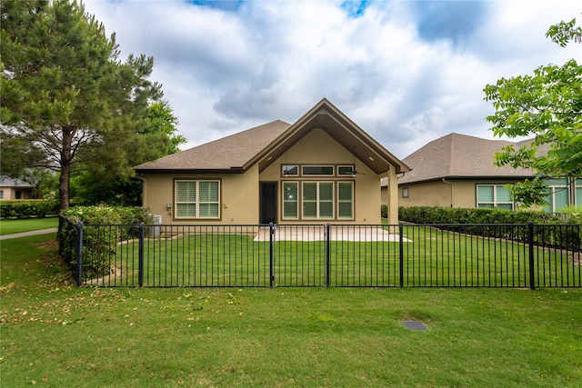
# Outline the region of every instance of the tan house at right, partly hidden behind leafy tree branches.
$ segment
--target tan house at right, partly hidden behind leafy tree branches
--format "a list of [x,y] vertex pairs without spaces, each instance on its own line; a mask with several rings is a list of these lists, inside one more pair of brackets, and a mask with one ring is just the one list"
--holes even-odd
[[[515,209],[506,184],[514,184],[534,173],[524,168],[497,167],[494,154],[509,144],[519,148],[530,142],[487,140],[466,134],[447,134],[406,156],[411,171],[398,177],[401,206],[498,207]],[[542,151],[543,152],[543,151]],[[569,204],[582,205],[582,180],[547,180],[552,194],[547,212]]]

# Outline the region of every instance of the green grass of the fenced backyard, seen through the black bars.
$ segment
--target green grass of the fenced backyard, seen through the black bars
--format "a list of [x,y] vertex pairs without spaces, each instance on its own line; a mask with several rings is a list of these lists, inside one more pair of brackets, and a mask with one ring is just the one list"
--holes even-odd
[[[113,229],[87,229],[89,241],[103,241]],[[454,234],[429,227],[405,227],[402,284],[415,287],[528,287],[528,246],[504,239]],[[84,280],[93,284],[135,286],[139,246],[135,240],[107,247],[97,262],[95,249],[84,250]],[[329,244],[332,286],[400,285],[398,242]],[[269,244],[253,234],[184,234],[144,242],[144,278],[148,286],[269,286]],[[579,256],[579,254],[577,254]],[[576,254],[535,247],[535,284],[580,285],[582,267]],[[93,260],[93,261],[92,261]],[[326,285],[324,241],[280,241],[274,248],[274,279],[278,286]],[[92,263],[95,271],[90,270]],[[115,268],[115,275],[105,276]]]

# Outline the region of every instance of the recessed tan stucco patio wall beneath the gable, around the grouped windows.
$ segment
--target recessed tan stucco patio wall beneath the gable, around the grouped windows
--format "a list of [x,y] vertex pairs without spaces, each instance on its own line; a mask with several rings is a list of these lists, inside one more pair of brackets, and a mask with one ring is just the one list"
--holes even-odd
[[[365,164],[356,159],[356,178],[351,176],[347,178],[334,177],[282,177],[282,164],[354,164],[354,155],[346,150],[342,145],[336,143],[328,134],[320,129],[315,129],[301,139],[297,144],[292,146],[286,154],[283,154],[275,162],[270,164],[265,171],[260,174],[260,180],[268,181],[297,181],[297,180],[313,180],[313,181],[340,181],[347,180],[355,182],[354,199],[356,207],[354,209],[354,221],[349,221],[357,224],[379,224],[380,223],[380,177],[372,170],[366,167]],[[361,174],[360,174],[361,173]],[[279,185],[279,193],[281,187]],[[278,217],[281,220],[281,198],[279,195]],[[298,220],[303,222],[303,220]],[[293,221],[297,222],[297,221]],[[321,220],[310,221],[321,224]],[[342,220],[341,222],[348,222]],[[287,221],[287,223],[291,223]]]

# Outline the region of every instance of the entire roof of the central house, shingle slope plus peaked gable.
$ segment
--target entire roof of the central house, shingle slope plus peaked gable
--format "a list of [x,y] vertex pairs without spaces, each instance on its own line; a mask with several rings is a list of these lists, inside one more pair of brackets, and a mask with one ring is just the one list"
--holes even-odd
[[376,174],[384,174],[390,166],[396,173],[408,171],[402,161],[390,154],[369,134],[352,122],[325,98],[304,114],[295,124],[280,120],[232,134],[211,143],[202,144],[135,166],[138,173],[236,173],[254,164],[263,171],[280,155],[314,129],[322,129],[337,143],[365,163]]

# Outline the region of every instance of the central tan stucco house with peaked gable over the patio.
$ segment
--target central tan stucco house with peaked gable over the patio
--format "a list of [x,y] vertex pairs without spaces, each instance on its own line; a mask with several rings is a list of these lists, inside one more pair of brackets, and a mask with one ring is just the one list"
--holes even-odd
[[[380,224],[380,178],[408,171],[326,99],[274,121],[135,166],[164,224]],[[397,186],[390,189],[397,223]]]

